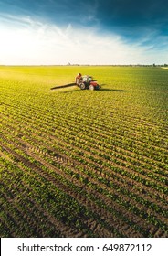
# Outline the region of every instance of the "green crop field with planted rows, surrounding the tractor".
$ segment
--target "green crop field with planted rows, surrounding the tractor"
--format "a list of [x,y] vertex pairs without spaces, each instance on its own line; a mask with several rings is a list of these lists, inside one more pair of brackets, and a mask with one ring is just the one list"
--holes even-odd
[[1,66],[1,237],[167,237],[167,110],[168,69]]

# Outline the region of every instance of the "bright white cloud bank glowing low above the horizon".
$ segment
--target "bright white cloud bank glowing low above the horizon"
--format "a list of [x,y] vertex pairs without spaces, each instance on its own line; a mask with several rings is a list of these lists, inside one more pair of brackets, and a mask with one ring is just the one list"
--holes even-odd
[[165,58],[165,54],[153,56],[141,44],[128,45],[118,35],[103,35],[94,27],[58,27],[30,17],[5,18],[10,22],[0,26],[0,64],[137,64]]

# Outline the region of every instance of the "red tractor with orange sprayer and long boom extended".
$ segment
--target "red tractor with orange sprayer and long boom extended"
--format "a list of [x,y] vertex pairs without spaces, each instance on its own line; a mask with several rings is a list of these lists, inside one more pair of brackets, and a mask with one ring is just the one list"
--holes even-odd
[[75,83],[73,82],[73,83],[68,83],[65,85],[55,86],[55,87],[52,87],[51,90],[59,89],[59,88],[66,88],[66,87],[70,87],[70,86],[74,86],[74,85],[79,86],[79,88],[81,90],[85,90],[85,89],[99,90],[100,89],[100,85],[97,83],[96,80],[93,80],[93,78],[91,76],[88,76],[88,75],[82,76],[79,73],[79,75],[76,77]]

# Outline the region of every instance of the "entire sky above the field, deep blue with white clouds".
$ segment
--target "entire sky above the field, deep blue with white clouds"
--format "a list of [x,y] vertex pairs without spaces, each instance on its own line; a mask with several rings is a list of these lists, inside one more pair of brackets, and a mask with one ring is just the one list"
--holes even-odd
[[0,64],[168,63],[167,0],[0,0]]

